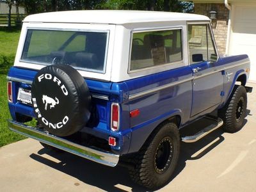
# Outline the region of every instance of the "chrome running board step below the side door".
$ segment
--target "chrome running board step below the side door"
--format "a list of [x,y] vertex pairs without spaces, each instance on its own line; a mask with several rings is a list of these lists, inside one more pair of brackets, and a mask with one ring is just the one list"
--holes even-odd
[[221,127],[221,125],[223,125],[223,120],[221,120],[221,118],[218,118],[218,120],[215,120],[215,124],[208,125],[207,127],[202,129],[201,131],[197,132],[195,135],[185,136],[184,138],[181,138],[181,140],[185,143],[196,142],[196,141],[204,138],[204,136],[206,136],[210,132],[212,132],[212,131],[218,129],[219,127]]

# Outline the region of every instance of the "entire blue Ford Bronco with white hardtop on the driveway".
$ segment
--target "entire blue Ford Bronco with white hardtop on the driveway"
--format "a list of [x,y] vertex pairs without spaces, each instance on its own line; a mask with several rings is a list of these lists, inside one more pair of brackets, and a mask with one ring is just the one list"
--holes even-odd
[[[219,56],[202,15],[29,15],[7,77],[8,127],[44,147],[125,164],[135,182],[161,188],[179,163],[180,141],[243,127],[249,72],[247,55]],[[35,127],[24,124],[33,118]],[[211,124],[180,134],[201,118]]]

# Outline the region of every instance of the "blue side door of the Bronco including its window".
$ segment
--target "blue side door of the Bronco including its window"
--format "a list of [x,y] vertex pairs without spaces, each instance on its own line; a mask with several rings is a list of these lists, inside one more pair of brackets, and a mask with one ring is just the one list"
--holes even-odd
[[194,76],[191,116],[203,115],[220,104],[223,90],[223,75],[209,24],[189,23],[188,44]]

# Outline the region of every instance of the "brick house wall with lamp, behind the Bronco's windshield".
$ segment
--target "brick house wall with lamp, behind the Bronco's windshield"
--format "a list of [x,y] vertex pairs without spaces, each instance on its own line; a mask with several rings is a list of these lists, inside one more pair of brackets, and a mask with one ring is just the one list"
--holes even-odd
[[228,9],[224,3],[195,3],[195,13],[210,16],[211,11],[217,12],[217,19],[212,19],[212,29],[219,54],[225,54],[228,31]]

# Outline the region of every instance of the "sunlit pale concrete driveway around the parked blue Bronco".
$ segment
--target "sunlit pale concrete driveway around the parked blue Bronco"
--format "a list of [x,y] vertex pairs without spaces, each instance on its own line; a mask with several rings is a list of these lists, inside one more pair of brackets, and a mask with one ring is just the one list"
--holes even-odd
[[[250,84],[252,86],[253,84]],[[243,129],[218,129],[197,143],[182,143],[172,181],[160,191],[256,191],[256,84],[248,94]],[[0,148],[0,191],[143,191],[125,168],[45,150],[27,139]]]

